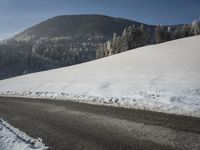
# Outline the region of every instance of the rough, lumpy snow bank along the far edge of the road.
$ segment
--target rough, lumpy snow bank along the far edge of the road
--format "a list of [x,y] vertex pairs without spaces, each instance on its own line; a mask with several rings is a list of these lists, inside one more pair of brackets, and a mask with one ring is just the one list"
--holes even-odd
[[63,92],[34,92],[25,91],[22,93],[8,91],[0,93],[1,96],[41,98],[50,100],[69,100],[74,102],[107,105],[115,107],[134,108],[150,110],[171,114],[200,117],[200,89],[196,96],[187,91],[179,96],[172,93],[162,92],[135,92],[134,98],[97,97],[88,95],[72,95]]

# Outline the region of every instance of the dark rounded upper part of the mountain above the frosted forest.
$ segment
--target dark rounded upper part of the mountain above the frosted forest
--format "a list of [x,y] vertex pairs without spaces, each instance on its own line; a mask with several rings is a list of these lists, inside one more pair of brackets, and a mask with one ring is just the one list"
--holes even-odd
[[141,23],[103,15],[65,15],[41,22],[14,36],[15,40],[37,40],[54,37],[102,37],[112,38],[113,33],[121,34],[130,25]]

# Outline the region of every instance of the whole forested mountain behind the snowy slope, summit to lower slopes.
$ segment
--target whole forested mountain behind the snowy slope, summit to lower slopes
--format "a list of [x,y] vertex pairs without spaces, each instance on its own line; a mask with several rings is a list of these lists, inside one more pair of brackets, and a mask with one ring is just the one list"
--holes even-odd
[[94,60],[101,44],[130,25],[141,23],[103,15],[50,18],[0,44],[0,79]]

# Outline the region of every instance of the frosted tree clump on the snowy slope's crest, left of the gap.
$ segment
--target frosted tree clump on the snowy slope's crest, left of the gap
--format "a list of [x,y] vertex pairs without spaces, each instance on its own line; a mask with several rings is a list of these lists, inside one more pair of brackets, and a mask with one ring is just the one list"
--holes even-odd
[[110,56],[124,52],[129,49],[141,47],[150,42],[149,32],[144,25],[135,27],[134,25],[124,29],[121,36],[113,34],[112,40],[103,44],[96,52],[96,58]]

